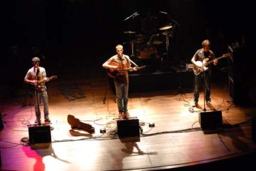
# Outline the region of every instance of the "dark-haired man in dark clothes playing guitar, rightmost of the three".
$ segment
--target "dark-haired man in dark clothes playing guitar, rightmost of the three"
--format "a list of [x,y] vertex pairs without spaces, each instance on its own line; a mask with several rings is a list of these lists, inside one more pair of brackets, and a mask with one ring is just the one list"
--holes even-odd
[[211,99],[210,99],[210,79],[211,79],[211,66],[208,65],[207,67],[204,66],[204,63],[207,61],[213,60],[213,64],[217,65],[218,61],[214,55],[214,52],[210,50],[210,41],[204,40],[202,42],[202,49],[198,49],[195,55],[192,58],[192,63],[194,64],[195,68],[200,72],[195,72],[195,90],[194,90],[194,104],[193,107],[198,105],[199,99],[199,87],[204,82],[205,86],[205,101],[208,107],[211,106]]

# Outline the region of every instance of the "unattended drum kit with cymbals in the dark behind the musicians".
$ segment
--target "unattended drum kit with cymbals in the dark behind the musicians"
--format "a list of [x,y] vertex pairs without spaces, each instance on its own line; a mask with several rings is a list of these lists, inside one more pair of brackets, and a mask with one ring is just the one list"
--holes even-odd
[[164,11],[158,11],[155,15],[152,14],[151,10],[144,14],[137,12],[131,14],[124,21],[130,19],[138,21],[137,19],[140,19],[141,27],[137,28],[138,25],[133,25],[123,33],[129,37],[125,44],[128,45],[126,49],[128,49],[128,52],[130,51],[130,54],[128,54],[133,60],[142,65],[162,67],[163,64],[168,63],[166,57],[170,53],[170,39],[176,37],[174,34],[176,35],[180,24]]

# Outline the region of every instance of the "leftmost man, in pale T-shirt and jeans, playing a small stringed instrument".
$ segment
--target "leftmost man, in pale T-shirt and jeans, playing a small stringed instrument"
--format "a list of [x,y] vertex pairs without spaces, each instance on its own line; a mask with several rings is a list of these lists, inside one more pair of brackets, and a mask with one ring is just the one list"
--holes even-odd
[[24,81],[29,84],[33,84],[35,87],[35,97],[34,97],[34,106],[36,110],[36,120],[35,123],[41,124],[41,113],[40,113],[40,99],[43,100],[43,113],[45,115],[45,122],[51,122],[49,119],[49,110],[48,110],[48,94],[46,91],[45,82],[48,82],[50,79],[46,77],[45,68],[39,67],[40,59],[34,57],[32,59],[33,67],[28,70],[27,75],[24,78]]

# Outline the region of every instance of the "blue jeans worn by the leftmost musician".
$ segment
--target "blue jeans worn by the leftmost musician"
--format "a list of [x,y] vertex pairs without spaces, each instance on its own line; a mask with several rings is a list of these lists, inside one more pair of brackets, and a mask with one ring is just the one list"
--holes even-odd
[[40,91],[37,90],[37,93],[35,92],[35,97],[34,97],[34,104],[35,104],[35,111],[36,111],[36,117],[39,118],[41,117],[41,111],[40,111],[40,99],[43,101],[43,113],[45,116],[49,115],[49,110],[48,110],[48,94],[46,90]]

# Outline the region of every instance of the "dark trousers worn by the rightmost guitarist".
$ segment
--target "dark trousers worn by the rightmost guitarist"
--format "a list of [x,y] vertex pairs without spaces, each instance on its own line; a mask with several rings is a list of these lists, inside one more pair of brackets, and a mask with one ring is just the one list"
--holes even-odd
[[210,78],[211,76],[208,70],[205,71],[204,73],[202,72],[199,75],[195,76],[195,91],[194,91],[194,97],[193,97],[195,102],[198,102],[200,87],[203,82],[204,82],[204,88],[205,88],[205,100],[211,101]]

